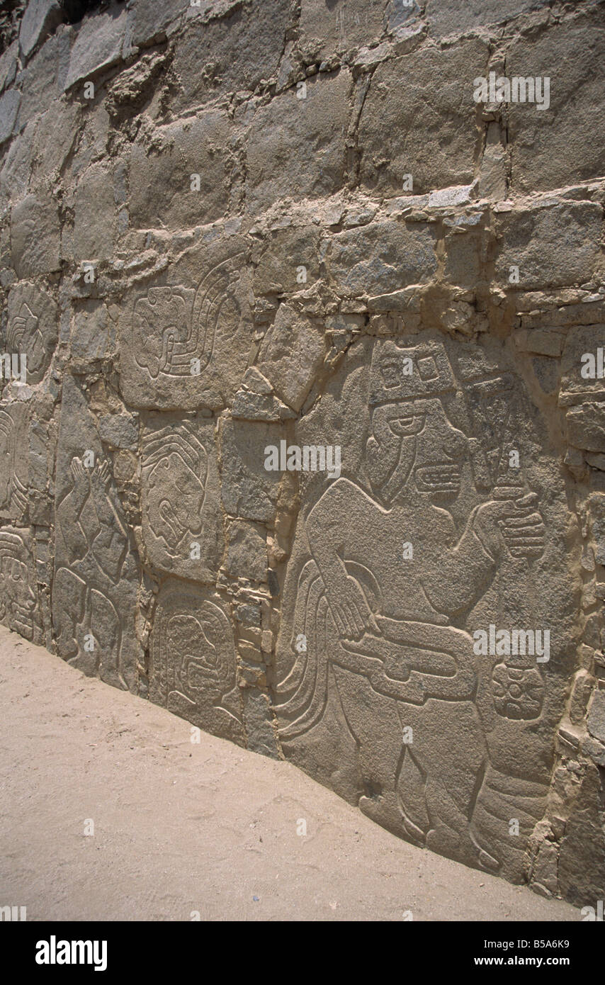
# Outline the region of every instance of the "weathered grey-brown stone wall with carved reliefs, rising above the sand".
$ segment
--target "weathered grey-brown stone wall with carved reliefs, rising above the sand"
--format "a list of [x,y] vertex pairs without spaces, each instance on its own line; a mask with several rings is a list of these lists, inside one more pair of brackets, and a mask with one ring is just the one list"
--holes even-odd
[[603,3],[89,6],[3,24],[0,619],[596,908]]

